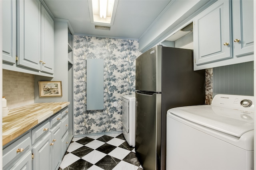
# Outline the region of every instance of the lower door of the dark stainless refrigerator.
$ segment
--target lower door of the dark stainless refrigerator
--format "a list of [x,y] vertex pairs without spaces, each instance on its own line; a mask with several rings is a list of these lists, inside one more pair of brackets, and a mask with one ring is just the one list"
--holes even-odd
[[135,150],[146,170],[156,170],[160,166],[161,96],[136,92]]

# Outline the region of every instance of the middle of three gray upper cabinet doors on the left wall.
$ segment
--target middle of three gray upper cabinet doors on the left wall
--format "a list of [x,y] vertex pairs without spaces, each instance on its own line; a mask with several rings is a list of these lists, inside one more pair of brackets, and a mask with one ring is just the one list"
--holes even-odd
[[40,70],[41,64],[41,2],[18,2],[18,65]]

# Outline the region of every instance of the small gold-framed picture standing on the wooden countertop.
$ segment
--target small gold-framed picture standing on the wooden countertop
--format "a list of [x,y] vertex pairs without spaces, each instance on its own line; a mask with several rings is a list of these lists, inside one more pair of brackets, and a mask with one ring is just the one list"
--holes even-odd
[[62,86],[59,82],[38,82],[39,84],[39,97],[61,97]]

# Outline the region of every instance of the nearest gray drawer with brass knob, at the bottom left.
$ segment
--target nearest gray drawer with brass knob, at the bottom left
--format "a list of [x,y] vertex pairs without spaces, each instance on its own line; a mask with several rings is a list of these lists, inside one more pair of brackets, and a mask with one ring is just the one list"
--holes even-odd
[[24,155],[28,150],[31,150],[31,137],[30,133],[27,133],[8,147],[3,150],[3,166],[9,162]]

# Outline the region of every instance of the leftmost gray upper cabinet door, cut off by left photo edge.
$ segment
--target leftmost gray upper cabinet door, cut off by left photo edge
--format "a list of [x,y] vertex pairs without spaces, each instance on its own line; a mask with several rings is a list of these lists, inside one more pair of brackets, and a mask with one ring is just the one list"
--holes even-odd
[[2,1],[3,61],[15,64],[16,61],[16,0]]

